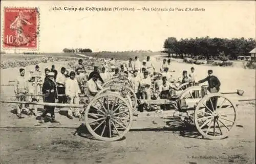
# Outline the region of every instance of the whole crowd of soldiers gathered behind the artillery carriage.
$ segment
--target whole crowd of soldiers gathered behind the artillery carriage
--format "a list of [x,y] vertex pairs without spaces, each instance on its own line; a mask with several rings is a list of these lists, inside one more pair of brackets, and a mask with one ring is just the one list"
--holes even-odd
[[[25,78],[25,69],[20,68],[18,76],[15,80],[15,94],[19,101],[32,101],[28,100],[30,97],[26,97],[29,93],[32,93],[29,89],[32,86],[34,94],[39,95],[42,93],[44,102],[49,103],[70,103],[79,104],[79,96],[86,94],[89,98],[94,97],[101,89],[102,84],[108,81],[108,79],[115,76],[124,76],[132,83],[133,91],[136,93],[138,99],[165,99],[171,89],[175,89],[174,78],[170,71],[170,59],[163,59],[159,73],[156,70],[154,63],[150,57],[146,57],[142,63],[138,57],[130,58],[124,64],[120,66],[116,65],[116,60],[113,58],[110,61],[104,60],[101,71],[99,66],[94,66],[94,70],[87,74],[83,65],[83,60],[79,59],[75,65],[75,71],[70,73],[65,67],[61,67],[60,73],[56,71],[54,65],[51,70],[46,68],[45,74],[39,71],[39,66],[36,65],[35,71],[31,73],[29,78]],[[151,77],[156,75],[157,79],[152,86]],[[208,71],[208,77],[203,80],[196,81],[195,68],[191,67],[191,72],[183,71],[183,78],[181,83],[203,83],[208,81],[209,90],[219,90],[220,81],[216,76],[212,75],[212,70]],[[29,85],[31,85],[29,87]],[[36,89],[35,89],[36,88]],[[85,89],[87,88],[87,90]],[[152,95],[152,90],[154,95]],[[36,98],[39,101],[39,98]],[[45,111],[40,115],[40,121],[43,123],[47,113],[51,114],[51,122],[58,123],[55,120],[54,106],[45,106]],[[29,107],[20,105],[17,109],[18,118],[23,118],[21,113],[24,111],[26,114],[31,114]],[[68,118],[73,119],[73,116],[79,117],[80,112],[77,108],[69,108]]]

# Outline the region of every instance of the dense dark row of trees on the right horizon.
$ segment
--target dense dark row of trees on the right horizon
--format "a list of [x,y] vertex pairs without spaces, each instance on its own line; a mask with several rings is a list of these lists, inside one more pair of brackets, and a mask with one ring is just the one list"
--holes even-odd
[[164,41],[164,53],[168,56],[174,54],[176,56],[191,56],[199,58],[218,58],[225,56],[229,59],[237,59],[238,56],[247,56],[248,53],[254,49],[256,41],[253,38],[210,38],[196,37],[194,38],[181,38],[177,40],[175,37],[168,37]]

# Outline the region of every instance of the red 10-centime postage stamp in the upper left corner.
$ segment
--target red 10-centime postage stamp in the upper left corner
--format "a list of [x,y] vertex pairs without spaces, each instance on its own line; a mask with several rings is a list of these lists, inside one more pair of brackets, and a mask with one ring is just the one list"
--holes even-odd
[[5,8],[4,48],[37,49],[37,8]]

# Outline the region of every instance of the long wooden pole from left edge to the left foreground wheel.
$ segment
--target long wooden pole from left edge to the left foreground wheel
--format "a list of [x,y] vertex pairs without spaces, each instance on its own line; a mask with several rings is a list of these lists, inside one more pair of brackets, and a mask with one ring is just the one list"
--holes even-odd
[[43,105],[43,106],[56,106],[56,107],[73,107],[83,108],[81,104],[58,104],[58,103],[40,103],[40,102],[24,102],[24,101],[0,101],[1,103],[14,103],[14,104],[32,104],[32,105]]

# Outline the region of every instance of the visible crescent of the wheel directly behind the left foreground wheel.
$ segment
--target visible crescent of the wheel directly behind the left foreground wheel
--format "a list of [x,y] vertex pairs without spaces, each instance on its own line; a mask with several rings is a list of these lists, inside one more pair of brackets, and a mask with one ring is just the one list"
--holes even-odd
[[118,95],[122,96],[127,102],[130,103],[132,106],[132,110],[134,111],[137,109],[137,97],[136,93],[129,87],[108,87],[103,88],[100,90],[97,94],[100,95],[101,93],[107,93],[107,92],[114,92]]

